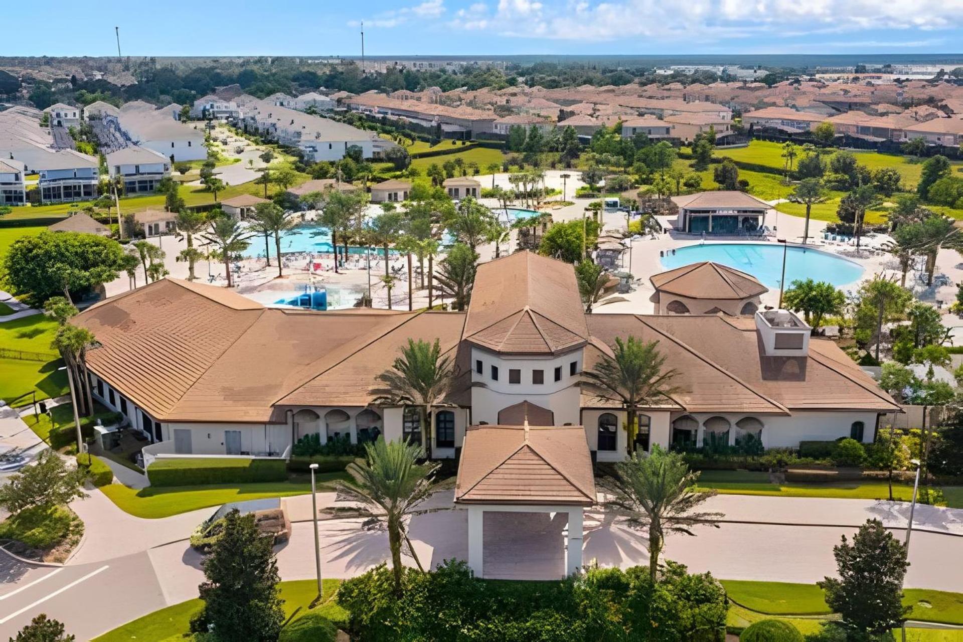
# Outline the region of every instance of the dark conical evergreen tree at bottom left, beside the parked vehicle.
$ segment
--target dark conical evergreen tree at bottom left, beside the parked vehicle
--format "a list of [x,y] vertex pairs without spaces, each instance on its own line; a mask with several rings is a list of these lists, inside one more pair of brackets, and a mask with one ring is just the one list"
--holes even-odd
[[224,516],[221,537],[201,562],[205,581],[198,586],[204,601],[191,622],[218,642],[276,642],[284,625],[278,595],[273,538],[261,533],[253,513],[236,508]]

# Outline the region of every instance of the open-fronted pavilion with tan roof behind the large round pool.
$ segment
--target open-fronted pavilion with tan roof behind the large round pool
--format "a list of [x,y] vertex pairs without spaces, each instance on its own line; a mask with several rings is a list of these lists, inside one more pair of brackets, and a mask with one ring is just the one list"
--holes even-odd
[[699,192],[673,196],[679,206],[676,229],[690,234],[740,234],[766,224],[772,209],[765,200],[744,192]]

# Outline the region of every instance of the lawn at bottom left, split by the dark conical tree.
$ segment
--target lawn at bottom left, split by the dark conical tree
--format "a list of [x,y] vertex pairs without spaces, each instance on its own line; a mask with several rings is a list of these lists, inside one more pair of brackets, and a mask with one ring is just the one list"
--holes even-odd
[[[311,602],[318,595],[317,583],[314,579],[298,579],[295,581],[282,581],[280,588],[281,599],[284,600],[284,614],[288,618],[285,630],[281,632],[281,642],[285,640],[310,639],[317,642],[333,640],[333,637],[326,637],[318,633],[299,637],[297,634],[303,630],[299,627],[299,622],[311,622],[316,618],[324,618],[326,621],[340,624],[347,620],[348,614],[343,608],[333,601],[335,591],[341,584],[340,579],[325,579],[325,603],[319,604],[314,608],[309,608]],[[190,639],[188,631],[190,629],[191,618],[198,613],[203,606],[199,599],[188,600],[179,604],[173,604],[159,611],[154,611],[149,615],[143,616],[132,622],[128,622],[122,627],[95,637],[94,642],[171,642],[173,640],[185,641]],[[321,623],[317,624],[318,629],[322,629]]]

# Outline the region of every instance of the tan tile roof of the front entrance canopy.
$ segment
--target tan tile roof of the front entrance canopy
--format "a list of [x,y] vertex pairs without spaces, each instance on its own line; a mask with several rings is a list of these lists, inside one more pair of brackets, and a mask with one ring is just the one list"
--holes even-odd
[[595,479],[585,429],[581,425],[468,428],[455,501],[592,505]]

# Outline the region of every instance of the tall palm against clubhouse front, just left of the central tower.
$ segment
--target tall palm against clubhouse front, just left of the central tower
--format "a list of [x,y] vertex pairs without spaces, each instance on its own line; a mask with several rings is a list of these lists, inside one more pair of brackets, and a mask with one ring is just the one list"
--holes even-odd
[[452,357],[443,356],[437,339],[433,344],[419,339],[408,339],[401,348],[401,356],[395,359],[390,370],[377,375],[384,388],[375,391],[376,403],[416,406],[421,440],[426,456],[431,458],[431,437],[434,422],[431,408],[440,403],[451,389],[455,379]]

